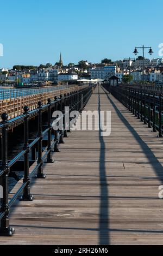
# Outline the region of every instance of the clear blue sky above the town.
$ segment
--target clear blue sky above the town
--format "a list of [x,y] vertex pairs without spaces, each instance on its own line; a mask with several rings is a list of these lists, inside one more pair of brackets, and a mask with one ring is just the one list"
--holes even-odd
[[8,0],[0,8],[0,67],[54,64],[60,51],[64,64],[116,60],[142,44],[159,57],[163,43],[162,0]]

